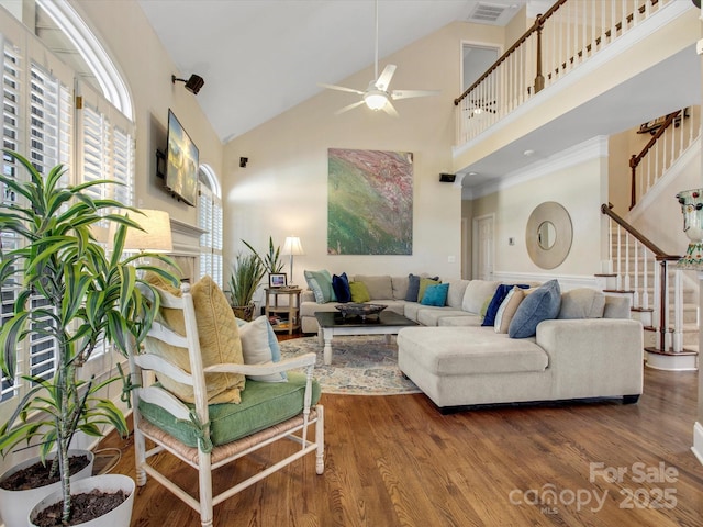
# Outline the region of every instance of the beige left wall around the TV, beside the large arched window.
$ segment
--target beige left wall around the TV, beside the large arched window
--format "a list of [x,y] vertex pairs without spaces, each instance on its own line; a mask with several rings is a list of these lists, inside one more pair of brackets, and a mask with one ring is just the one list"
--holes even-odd
[[[71,4],[107,48],[132,96],[136,123],[135,204],[168,211],[171,217],[198,225],[196,208],[176,201],[157,187],[156,148],[166,148],[168,109],[178,116],[208,164],[222,179],[222,143],[182,83],[171,83],[178,71],[133,0],[74,0]],[[205,79],[208,81],[208,79]],[[207,89],[203,88],[203,90]]]

